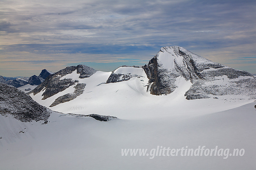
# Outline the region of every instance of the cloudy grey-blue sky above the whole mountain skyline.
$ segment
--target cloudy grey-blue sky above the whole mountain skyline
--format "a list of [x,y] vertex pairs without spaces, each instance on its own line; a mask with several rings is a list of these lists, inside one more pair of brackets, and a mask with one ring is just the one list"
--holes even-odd
[[256,74],[255,11],[255,0],[0,0],[0,75],[141,66],[162,46]]

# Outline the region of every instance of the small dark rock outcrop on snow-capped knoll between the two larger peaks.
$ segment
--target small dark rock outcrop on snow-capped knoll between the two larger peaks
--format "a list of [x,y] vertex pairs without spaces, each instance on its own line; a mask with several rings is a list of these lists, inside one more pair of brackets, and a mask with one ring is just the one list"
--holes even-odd
[[[139,66],[126,66],[126,65],[123,65],[123,66],[120,66],[120,67],[135,67],[135,68],[139,68]],[[118,67],[118,68],[120,68],[120,67]],[[115,70],[117,70],[117,69],[115,69]],[[107,80],[106,83],[122,82],[122,81],[130,80],[132,77],[137,77],[137,78],[142,77],[142,76],[138,76],[138,75],[131,75],[130,73],[127,73],[127,74],[117,73],[116,74],[116,73],[114,73],[115,70],[112,71],[112,73],[108,77],[108,80]]]

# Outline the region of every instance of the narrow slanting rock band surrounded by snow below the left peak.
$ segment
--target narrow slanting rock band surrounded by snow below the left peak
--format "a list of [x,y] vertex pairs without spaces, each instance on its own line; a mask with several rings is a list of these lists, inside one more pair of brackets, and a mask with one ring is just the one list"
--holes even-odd
[[58,97],[49,107],[53,107],[60,103],[68,102],[70,100],[75,99],[77,96],[83,94],[85,86],[86,84],[84,83],[77,83],[77,85],[74,87],[75,91],[73,93],[65,94],[63,96]]

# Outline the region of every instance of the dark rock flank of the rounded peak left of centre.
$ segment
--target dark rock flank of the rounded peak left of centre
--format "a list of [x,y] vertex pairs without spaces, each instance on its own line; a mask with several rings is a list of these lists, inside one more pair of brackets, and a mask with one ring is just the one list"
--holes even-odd
[[[43,96],[42,100],[45,100],[48,97],[51,97],[61,91],[64,91],[65,89],[67,89],[68,87],[74,85],[75,83],[77,83],[79,81],[72,80],[72,79],[61,79],[61,77],[65,76],[67,74],[71,74],[75,70],[77,70],[76,71],[77,73],[80,73],[79,77],[83,77],[83,78],[91,76],[93,73],[96,72],[96,70],[92,69],[91,67],[87,67],[84,65],[66,67],[65,69],[62,69],[62,70],[58,71],[57,73],[54,73],[54,74],[48,76],[44,82],[42,82],[39,86],[34,88],[32,91],[30,91],[29,94],[33,93],[34,95],[36,95],[40,91],[45,90],[44,93],[42,94],[42,96]],[[73,94],[66,95],[66,97],[68,97],[69,99],[73,98],[71,96],[74,97]],[[62,99],[59,98],[58,102],[64,101],[63,99],[64,99],[64,97],[62,97]],[[56,101],[55,104],[57,105],[58,102]]]

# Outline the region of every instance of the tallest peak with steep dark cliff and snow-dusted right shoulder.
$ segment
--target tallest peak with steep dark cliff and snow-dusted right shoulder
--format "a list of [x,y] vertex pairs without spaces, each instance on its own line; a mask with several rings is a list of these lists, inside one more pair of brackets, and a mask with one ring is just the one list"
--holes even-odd
[[256,79],[251,73],[215,63],[179,46],[162,47],[142,68],[149,79],[148,91],[155,95],[172,93],[178,87],[179,76],[192,83],[184,94],[188,100],[218,95],[247,95],[254,99],[256,94]]

